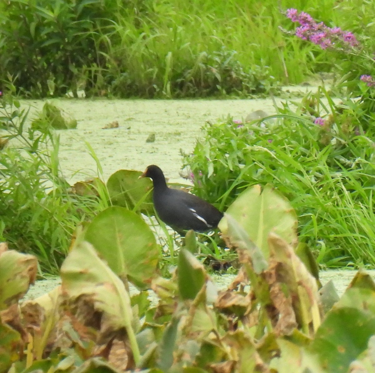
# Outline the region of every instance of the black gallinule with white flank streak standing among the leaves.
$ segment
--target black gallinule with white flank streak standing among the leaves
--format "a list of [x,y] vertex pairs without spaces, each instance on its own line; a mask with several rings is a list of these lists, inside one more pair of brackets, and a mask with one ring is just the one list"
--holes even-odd
[[223,213],[203,199],[183,190],[168,188],[158,166],[148,166],[141,177],[152,179],[155,210],[160,219],[174,229],[207,231],[216,228],[223,217]]

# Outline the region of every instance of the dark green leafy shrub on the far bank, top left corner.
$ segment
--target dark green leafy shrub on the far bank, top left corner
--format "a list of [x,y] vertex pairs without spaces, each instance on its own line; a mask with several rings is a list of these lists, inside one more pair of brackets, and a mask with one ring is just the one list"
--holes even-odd
[[[110,24],[121,1],[12,1],[1,11],[1,76],[14,81],[17,91],[33,97],[60,96],[96,86],[100,74],[92,70],[82,82],[82,70],[102,69],[99,51],[104,40],[97,30]],[[12,51],[10,53],[10,51]],[[104,50],[103,50],[104,52]]]

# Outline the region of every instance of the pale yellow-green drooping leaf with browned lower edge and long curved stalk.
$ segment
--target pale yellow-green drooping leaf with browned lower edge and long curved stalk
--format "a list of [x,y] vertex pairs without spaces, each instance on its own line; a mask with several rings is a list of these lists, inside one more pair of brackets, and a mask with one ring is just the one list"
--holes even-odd
[[139,350],[132,329],[132,308],[124,283],[99,258],[89,242],[77,240],[61,266],[62,292],[74,300],[85,296],[93,307],[107,314],[108,327],[125,328],[133,351],[139,361]]

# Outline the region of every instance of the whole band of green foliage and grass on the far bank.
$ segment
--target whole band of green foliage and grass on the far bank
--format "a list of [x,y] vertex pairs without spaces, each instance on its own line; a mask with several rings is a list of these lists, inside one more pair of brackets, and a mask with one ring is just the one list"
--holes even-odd
[[335,60],[285,36],[280,26],[294,29],[282,14],[290,7],[375,35],[366,0],[10,0],[0,4],[0,80],[31,97],[268,92],[330,71]]

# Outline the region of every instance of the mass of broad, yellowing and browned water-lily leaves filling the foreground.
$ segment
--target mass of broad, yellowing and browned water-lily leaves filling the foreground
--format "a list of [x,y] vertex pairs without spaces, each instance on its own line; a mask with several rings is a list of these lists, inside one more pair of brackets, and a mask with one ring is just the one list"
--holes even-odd
[[[0,343],[2,370],[374,371],[374,282],[358,272],[334,307],[323,311],[317,280],[295,252],[296,214],[272,188],[246,189],[220,222],[241,271],[219,292],[186,249],[167,280],[158,276],[153,260],[145,260],[145,246],[123,240],[127,227],[111,227],[108,240],[96,240],[95,246],[84,241],[90,229],[119,214],[125,219],[119,228],[123,222],[135,224],[132,233],[142,240],[151,233],[125,208],[104,211],[78,234],[61,269],[62,285],[20,307],[20,297],[34,281],[36,261],[0,244],[0,288],[13,281],[0,293],[0,341],[12,341]],[[153,272],[139,280],[145,288],[152,279],[156,303],[150,304],[145,291],[130,296],[132,270],[118,271],[118,263],[110,260],[116,241],[116,251],[124,258],[131,254],[133,266]]]

